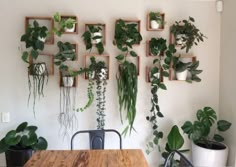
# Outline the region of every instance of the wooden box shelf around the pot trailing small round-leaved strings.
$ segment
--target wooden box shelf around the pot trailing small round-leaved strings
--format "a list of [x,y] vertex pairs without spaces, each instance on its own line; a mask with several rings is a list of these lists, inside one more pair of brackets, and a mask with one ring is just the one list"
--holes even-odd
[[[99,55],[99,54],[88,54],[88,55],[85,55],[84,56],[84,67],[88,67],[89,66],[89,63],[87,63],[87,61],[90,62],[90,60],[88,60],[88,58],[90,57],[95,57],[97,58],[97,61],[102,60],[102,61],[105,61],[106,62],[106,65],[107,65],[107,80],[110,79],[110,56],[107,55],[107,54],[102,54],[102,55]],[[86,73],[84,74],[84,79],[88,79],[88,76],[86,75]]]

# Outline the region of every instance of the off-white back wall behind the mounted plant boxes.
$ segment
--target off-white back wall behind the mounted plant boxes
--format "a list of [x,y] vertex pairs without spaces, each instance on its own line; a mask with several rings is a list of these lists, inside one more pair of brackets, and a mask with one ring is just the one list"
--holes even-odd
[[[146,14],[150,10],[161,10],[166,13],[166,29],[164,32],[146,31]],[[22,45],[20,36],[24,33],[25,16],[52,16],[55,12],[74,14],[79,18],[79,35],[68,35],[67,39],[79,42],[78,66],[83,65],[85,46],[82,43],[81,34],[86,22],[104,22],[107,24],[106,52],[111,56],[111,77],[107,87],[107,117],[106,128],[122,130],[120,124],[118,103],[116,94],[115,74],[117,62],[115,56],[118,50],[112,45],[114,36],[114,22],[118,18],[140,19],[141,33],[144,41],[135,47],[141,56],[141,73],[139,76],[137,118],[135,128],[138,133],[133,133],[124,139],[124,148],[141,148],[145,150],[145,143],[150,139],[151,127],[145,120],[150,110],[150,86],[145,81],[145,66],[151,61],[145,57],[145,40],[152,36],[169,39],[169,26],[176,20],[192,16],[196,19],[196,25],[208,37],[204,43],[195,47],[192,52],[200,60],[200,68],[204,72],[200,75],[201,83],[188,84],[185,82],[170,82],[165,80],[168,91],[160,92],[160,106],[165,114],[165,119],[160,121],[160,128],[169,131],[173,124],[182,125],[187,119],[191,119],[197,109],[204,106],[212,106],[218,112],[219,100],[219,58],[220,58],[220,15],[215,10],[212,1],[189,0],[57,0],[57,1],[0,1],[0,15],[2,26],[0,30],[0,46],[2,62],[0,66],[0,111],[10,112],[11,122],[0,123],[0,137],[17,124],[28,121],[39,127],[39,134],[46,137],[49,149],[68,149],[68,142],[58,136],[59,124],[59,86],[58,71],[50,77],[45,87],[45,97],[36,106],[36,119],[34,119],[31,107],[27,107],[27,66],[21,61],[18,47]],[[4,19],[3,19],[4,18]],[[58,41],[58,39],[56,39]],[[49,46],[46,50],[55,53],[56,45]],[[87,81],[79,77],[78,105],[86,102]],[[96,127],[95,105],[84,113],[78,114],[79,129],[91,129]],[[85,142],[83,142],[85,143]],[[115,147],[115,143],[108,145]],[[164,145],[163,145],[164,146]],[[186,147],[189,146],[186,140]],[[160,161],[160,154],[154,152],[146,156],[150,166],[156,166]],[[4,165],[1,155],[0,166]]]

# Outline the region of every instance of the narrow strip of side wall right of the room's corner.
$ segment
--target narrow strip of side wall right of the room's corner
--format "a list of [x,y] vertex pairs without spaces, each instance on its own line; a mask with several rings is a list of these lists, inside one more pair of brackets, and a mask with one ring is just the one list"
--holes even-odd
[[234,0],[224,1],[224,12],[222,13],[221,29],[221,57],[220,57],[220,117],[232,122],[232,127],[224,134],[225,143],[229,146],[230,155],[228,164],[234,166],[236,156],[236,79],[235,71],[235,38],[236,23],[232,21],[236,2]]

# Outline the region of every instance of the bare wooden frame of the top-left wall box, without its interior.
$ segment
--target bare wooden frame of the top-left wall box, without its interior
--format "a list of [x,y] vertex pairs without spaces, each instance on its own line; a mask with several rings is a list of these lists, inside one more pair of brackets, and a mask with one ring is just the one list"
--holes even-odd
[[54,44],[54,33],[53,33],[54,22],[53,22],[52,17],[26,16],[25,17],[25,32],[29,24],[29,20],[48,20],[51,26],[51,30],[48,30],[50,33],[50,38],[46,40],[45,44]]

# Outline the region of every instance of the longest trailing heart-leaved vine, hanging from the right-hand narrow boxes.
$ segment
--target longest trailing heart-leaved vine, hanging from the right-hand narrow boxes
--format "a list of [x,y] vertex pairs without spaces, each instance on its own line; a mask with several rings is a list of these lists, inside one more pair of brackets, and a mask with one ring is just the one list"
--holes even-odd
[[[175,46],[170,44],[167,46],[166,40],[163,38],[152,38],[150,46],[150,52],[153,56],[157,56],[153,60],[154,67],[150,70],[150,80],[151,80],[151,103],[152,107],[150,110],[150,115],[146,117],[146,119],[151,123],[153,129],[153,139],[149,143],[152,145],[158,146],[158,150],[160,150],[159,141],[163,138],[163,132],[158,130],[158,118],[163,118],[164,115],[160,111],[160,106],[158,104],[158,91],[159,89],[166,90],[166,86],[163,82],[161,82],[161,75],[164,77],[168,77],[168,70],[170,69],[172,59],[174,57],[174,53],[176,52]],[[159,56],[159,54],[163,52],[163,56]],[[157,75],[159,74],[159,75]],[[147,144],[146,152],[149,154],[152,151],[149,145]]]

